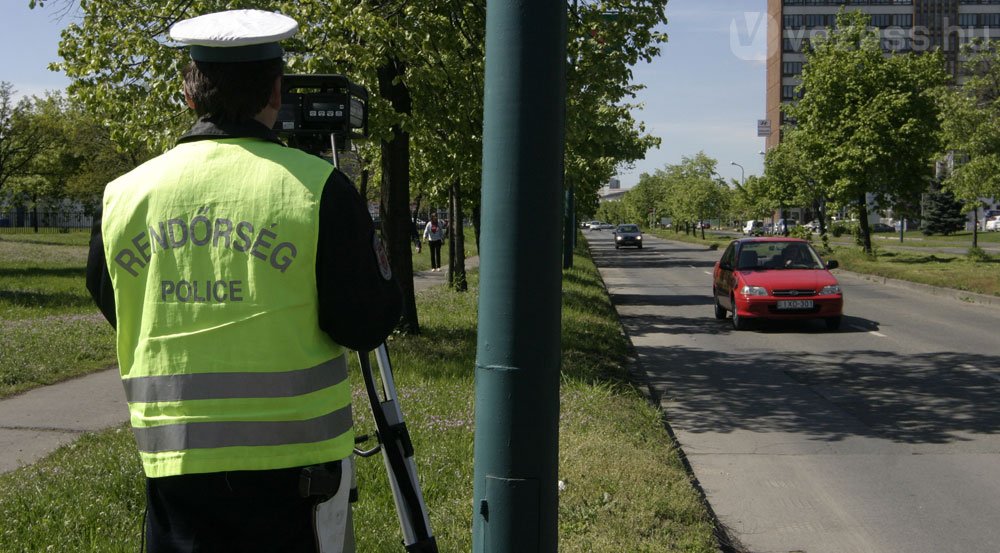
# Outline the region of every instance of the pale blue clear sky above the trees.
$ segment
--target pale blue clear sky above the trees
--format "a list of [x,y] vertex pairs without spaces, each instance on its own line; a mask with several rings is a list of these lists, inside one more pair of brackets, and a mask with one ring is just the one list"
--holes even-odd
[[[60,14],[59,2],[34,10],[28,0],[0,5],[0,81],[19,95],[59,90],[69,80],[47,69],[58,60],[59,31],[73,17]],[[726,179],[763,171],[764,139],[757,120],[764,117],[766,0],[670,0],[661,55],[634,68],[635,82],[646,86],[634,111],[646,132],[662,139],[646,159],[623,169],[618,178],[630,188],[642,173],[680,163],[704,151],[718,160]]]

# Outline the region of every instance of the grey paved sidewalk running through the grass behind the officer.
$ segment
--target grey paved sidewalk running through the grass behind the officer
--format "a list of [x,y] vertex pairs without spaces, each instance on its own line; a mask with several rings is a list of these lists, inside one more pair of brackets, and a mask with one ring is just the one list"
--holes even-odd
[[[478,267],[479,258],[466,259],[465,266]],[[447,281],[444,271],[422,271],[413,275],[413,288],[420,292]],[[126,422],[117,367],[0,400],[0,474],[34,463],[85,432]]]

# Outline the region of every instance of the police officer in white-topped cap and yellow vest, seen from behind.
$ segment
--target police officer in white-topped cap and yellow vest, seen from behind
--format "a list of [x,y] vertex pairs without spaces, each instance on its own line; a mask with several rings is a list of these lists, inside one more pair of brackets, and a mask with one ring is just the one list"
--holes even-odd
[[362,198],[271,131],[297,29],[257,10],[174,25],[199,118],[107,186],[95,224],[87,287],[117,329],[153,553],[326,551],[317,506],[354,445],[345,350],[400,316]]

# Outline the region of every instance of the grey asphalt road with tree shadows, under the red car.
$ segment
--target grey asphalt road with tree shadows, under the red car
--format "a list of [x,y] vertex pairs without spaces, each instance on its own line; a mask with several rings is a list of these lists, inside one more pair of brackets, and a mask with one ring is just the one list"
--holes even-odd
[[586,236],[640,375],[745,551],[1000,552],[995,307],[840,275],[840,331],[736,332],[712,313],[721,252]]

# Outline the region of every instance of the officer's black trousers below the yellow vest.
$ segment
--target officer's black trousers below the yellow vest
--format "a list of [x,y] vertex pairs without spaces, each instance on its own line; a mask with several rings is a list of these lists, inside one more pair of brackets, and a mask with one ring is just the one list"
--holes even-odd
[[146,479],[149,553],[316,553],[301,468]]

